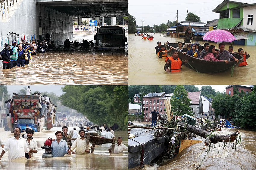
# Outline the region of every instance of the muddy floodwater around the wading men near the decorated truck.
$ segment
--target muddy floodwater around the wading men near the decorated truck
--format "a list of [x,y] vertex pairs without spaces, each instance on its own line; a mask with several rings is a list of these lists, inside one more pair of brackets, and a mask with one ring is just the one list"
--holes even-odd
[[[71,129],[71,127],[69,127]],[[72,128],[73,129],[73,128]],[[34,157],[27,160],[26,158],[19,158],[8,161],[8,152],[4,154],[0,161],[0,169],[8,170],[64,170],[64,169],[88,169],[88,170],[124,170],[128,167],[128,151],[122,154],[109,155],[108,148],[111,144],[96,145],[94,153],[88,155],[69,155],[67,157],[44,158],[42,154],[45,150],[41,148],[48,137],[56,139],[55,132],[61,128],[54,127],[51,131],[44,131],[42,133],[35,132],[33,138],[37,141],[38,152],[34,153]],[[13,136],[10,131],[4,131],[0,128],[2,141],[5,142]],[[115,136],[123,136],[123,144],[128,145],[127,131],[115,131]],[[2,152],[2,148],[0,149]]]

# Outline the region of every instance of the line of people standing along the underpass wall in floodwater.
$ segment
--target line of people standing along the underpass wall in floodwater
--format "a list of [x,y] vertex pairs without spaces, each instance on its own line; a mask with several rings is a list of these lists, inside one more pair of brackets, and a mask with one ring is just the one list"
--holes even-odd
[[17,44],[16,40],[13,40],[11,45],[5,43],[5,48],[0,52],[0,59],[3,62],[3,69],[13,68],[13,67],[24,67],[29,64],[32,55],[37,53],[45,53],[47,51],[52,51],[55,47],[54,41],[50,39],[44,39],[43,41],[22,40]]

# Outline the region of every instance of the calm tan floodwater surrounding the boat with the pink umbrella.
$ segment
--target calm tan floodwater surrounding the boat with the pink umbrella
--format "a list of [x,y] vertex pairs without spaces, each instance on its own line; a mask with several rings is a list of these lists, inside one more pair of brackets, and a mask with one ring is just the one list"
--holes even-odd
[[[158,58],[155,54],[155,46],[160,41],[163,45],[164,42],[175,43],[178,41],[184,41],[181,38],[160,37],[160,34],[153,34],[154,40],[142,40],[141,36],[135,36],[129,34],[129,73],[128,83],[129,85],[228,85],[228,84],[254,84],[256,80],[255,71],[255,46],[238,46],[234,45],[234,51],[238,51],[238,48],[244,49],[244,51],[250,54],[248,58],[248,65],[245,67],[235,67],[233,76],[231,77],[231,70],[227,70],[222,73],[198,73],[185,65],[181,68],[180,72],[167,73],[164,71],[165,59]],[[192,42],[192,41],[191,41]],[[204,42],[199,41],[202,45]],[[209,43],[210,45],[217,46],[217,44]],[[225,49],[228,49],[228,45],[225,45]]]

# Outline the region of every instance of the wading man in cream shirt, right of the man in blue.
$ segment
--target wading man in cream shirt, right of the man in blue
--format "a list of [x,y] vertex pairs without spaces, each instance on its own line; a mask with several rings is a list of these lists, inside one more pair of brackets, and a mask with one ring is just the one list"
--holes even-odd
[[79,130],[80,138],[77,138],[75,140],[75,142],[70,148],[70,152],[76,149],[76,155],[85,155],[90,153],[89,141],[88,142],[86,141],[84,134],[85,134],[85,131],[83,129]]

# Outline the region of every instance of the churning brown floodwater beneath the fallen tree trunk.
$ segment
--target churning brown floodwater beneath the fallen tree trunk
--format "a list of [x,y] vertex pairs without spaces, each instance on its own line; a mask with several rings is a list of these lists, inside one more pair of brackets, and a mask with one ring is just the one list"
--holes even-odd
[[[237,129],[222,129],[219,133],[231,134]],[[232,150],[232,145],[227,144],[226,150],[223,149],[223,143],[214,144],[211,146],[211,151],[206,155],[206,158],[202,162],[200,167],[201,170],[251,170],[256,169],[256,132],[242,130],[241,138],[242,141],[236,146],[236,151]],[[201,139],[200,136],[198,136]],[[203,141],[205,139],[202,139]],[[168,162],[166,165],[154,166],[145,165],[142,170],[195,170],[196,167],[201,163],[202,158],[207,150],[207,147],[204,146],[204,142],[194,144],[183,151],[181,151],[173,160]],[[219,153],[218,153],[219,150]],[[219,154],[219,158],[218,158]],[[139,167],[132,168],[132,170],[141,170]]]

